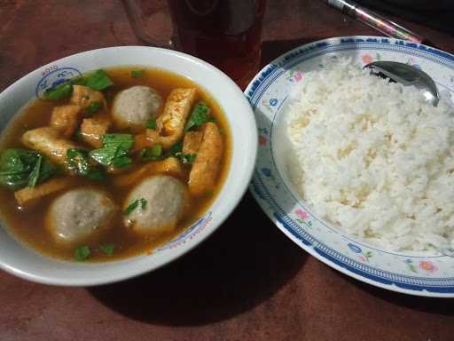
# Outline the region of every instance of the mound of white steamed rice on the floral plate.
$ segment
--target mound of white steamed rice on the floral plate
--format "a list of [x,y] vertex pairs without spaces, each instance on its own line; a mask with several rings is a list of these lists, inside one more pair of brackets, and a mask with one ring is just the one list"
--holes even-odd
[[340,59],[290,107],[290,178],[315,213],[387,250],[454,247],[454,110]]

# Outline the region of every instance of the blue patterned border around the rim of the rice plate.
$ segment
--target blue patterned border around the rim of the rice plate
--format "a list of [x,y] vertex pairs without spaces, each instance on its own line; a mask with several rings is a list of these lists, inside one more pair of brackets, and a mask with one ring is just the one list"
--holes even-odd
[[[306,59],[312,59],[331,52],[341,52],[348,50],[371,49],[393,52],[405,52],[408,55],[418,56],[423,59],[430,59],[432,62],[454,69],[454,55],[436,50],[426,45],[414,44],[401,40],[381,37],[344,37],[332,38],[313,44],[303,45],[293,51],[287,52],[264,67],[254,80],[249,84],[245,94],[254,110],[259,105],[260,100],[270,85],[278,79],[286,70],[300,64]],[[270,103],[273,106],[273,103]],[[282,209],[275,200],[258,169],[254,172],[254,177],[250,186],[251,192],[273,221],[276,221],[281,229],[286,230],[294,239],[301,243],[301,247],[309,253],[319,258],[329,266],[337,268],[345,274],[349,274],[356,279],[369,282],[385,289],[411,293],[415,295],[453,297],[454,277],[418,277],[405,274],[387,272],[379,268],[358,262],[353,258],[348,258],[337,250],[325,245],[324,242],[317,240],[307,230],[294,222],[289,217],[286,210]],[[350,246],[349,246],[350,247]],[[355,245],[350,249],[355,251]],[[400,288],[400,289],[399,289]],[[430,294],[432,293],[432,294]]]

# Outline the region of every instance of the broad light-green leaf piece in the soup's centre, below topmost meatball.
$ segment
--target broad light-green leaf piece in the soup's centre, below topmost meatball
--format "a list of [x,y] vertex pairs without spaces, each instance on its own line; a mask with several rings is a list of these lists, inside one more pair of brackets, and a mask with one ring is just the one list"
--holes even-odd
[[133,145],[131,134],[105,134],[103,147],[90,151],[90,157],[106,167],[111,164],[115,168],[125,167],[132,163],[128,153]]

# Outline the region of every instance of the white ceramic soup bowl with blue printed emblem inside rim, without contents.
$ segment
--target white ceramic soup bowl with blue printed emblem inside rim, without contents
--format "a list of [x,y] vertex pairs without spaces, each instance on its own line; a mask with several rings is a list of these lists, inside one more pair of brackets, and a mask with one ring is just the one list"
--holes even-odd
[[56,60],[20,78],[0,94],[0,130],[31,99],[52,83],[114,66],[159,67],[184,75],[205,88],[223,108],[231,127],[231,164],[222,191],[203,217],[150,256],[108,263],[76,263],[45,257],[0,227],[0,267],[34,282],[89,286],[117,282],[152,271],[192,250],[223,223],[245,193],[254,170],[257,129],[254,114],[239,87],[217,68],[190,55],[165,49],[122,46],[82,52]]

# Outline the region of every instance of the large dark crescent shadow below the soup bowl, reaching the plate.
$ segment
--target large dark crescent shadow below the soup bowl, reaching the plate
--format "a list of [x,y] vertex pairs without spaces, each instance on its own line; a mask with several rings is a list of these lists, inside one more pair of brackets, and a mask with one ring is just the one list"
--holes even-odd
[[223,226],[184,258],[137,279],[88,290],[132,319],[201,325],[271,297],[307,257],[247,193]]

